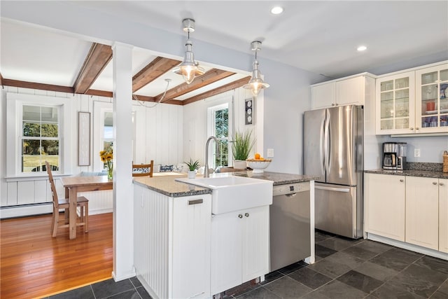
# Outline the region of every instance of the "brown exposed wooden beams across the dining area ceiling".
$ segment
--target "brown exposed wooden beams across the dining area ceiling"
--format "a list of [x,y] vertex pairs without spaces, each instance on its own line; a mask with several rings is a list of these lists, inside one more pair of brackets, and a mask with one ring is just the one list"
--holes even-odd
[[[55,92],[69,92],[73,94],[83,94],[83,95],[97,95],[102,97],[113,97],[111,91],[107,90],[94,90],[91,88],[95,80],[102,74],[104,68],[111,63],[112,60],[112,48],[111,46],[102,45],[100,43],[92,43],[89,53],[85,57],[82,67],[78,70],[78,75],[76,76],[76,81],[73,86],[62,86],[62,85],[51,85],[45,83],[35,83],[28,81],[18,81],[8,78],[3,78],[0,74],[1,85],[13,86],[18,88],[32,88],[38,90],[50,90]],[[138,95],[138,92],[144,86],[151,84],[155,79],[164,76],[167,72],[170,72],[176,65],[180,64],[179,60],[172,60],[165,57],[155,57],[154,60],[149,62],[145,67],[143,67],[137,74],[132,77],[132,92],[133,99],[138,99],[144,102],[159,102],[162,99],[162,95],[165,93],[165,97],[160,101],[166,104],[176,104],[185,105],[190,104],[213,95],[218,95],[222,92],[239,88],[246,84],[250,79],[250,76],[236,76],[235,81],[230,81],[230,83],[225,83],[218,86],[217,88],[212,88],[207,91],[200,93],[199,95],[193,95],[192,97],[187,97],[183,100],[176,99],[182,95],[186,95],[189,92],[193,92],[200,88],[207,87],[211,83],[216,83],[223,78],[228,78],[235,75],[232,71],[224,71],[222,69],[209,69],[202,76],[197,76],[195,80],[190,83],[181,83],[173,88],[167,90],[167,92],[162,92],[160,95],[155,97],[148,97],[145,95]]]

